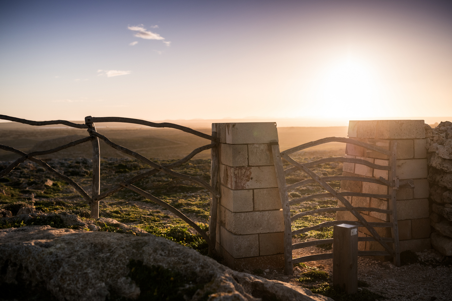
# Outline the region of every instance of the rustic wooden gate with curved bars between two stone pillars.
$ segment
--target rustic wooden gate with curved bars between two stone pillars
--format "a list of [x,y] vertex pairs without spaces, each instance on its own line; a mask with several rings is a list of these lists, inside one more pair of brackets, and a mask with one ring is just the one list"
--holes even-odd
[[[371,162],[368,162],[363,159],[358,158],[347,158],[347,157],[328,157],[328,158],[322,158],[319,160],[315,160],[312,162],[307,163],[299,163],[292,159],[292,157],[289,156],[289,154],[301,151],[302,149],[310,148],[315,145],[325,144],[328,142],[342,142],[342,143],[348,143],[348,144],[354,144],[372,151],[376,151],[382,154],[385,154],[389,156],[389,166],[383,166],[383,165],[377,165]],[[324,138],[317,141],[312,141],[306,144],[301,144],[297,147],[287,149],[283,152],[279,152],[279,145],[278,143],[274,143],[272,145],[272,152],[273,152],[273,161],[275,162],[275,171],[276,171],[276,177],[278,181],[278,188],[279,188],[279,194],[281,198],[282,203],[282,211],[284,216],[284,262],[285,262],[285,271],[286,274],[292,274],[294,263],[301,263],[306,261],[312,261],[312,260],[321,260],[321,259],[332,259],[333,253],[324,253],[324,254],[317,254],[317,255],[309,255],[309,256],[302,256],[295,259],[292,259],[292,250],[305,248],[313,245],[321,245],[321,244],[328,244],[333,243],[333,239],[320,239],[315,241],[305,241],[300,242],[292,245],[292,235],[297,235],[301,233],[306,233],[311,230],[320,229],[323,227],[331,227],[334,225],[339,225],[342,223],[347,223],[353,226],[358,227],[365,227],[368,232],[372,236],[368,237],[358,237],[358,241],[378,241],[381,246],[385,249],[385,251],[358,251],[358,256],[393,256],[394,258],[394,264],[396,266],[400,266],[400,252],[399,252],[399,231],[397,226],[397,210],[396,210],[396,193],[397,190],[401,185],[404,185],[407,188],[413,189],[413,180],[404,180],[399,181],[399,177],[395,176],[395,169],[396,169],[396,141],[391,141],[391,150],[386,150],[384,148],[377,147],[372,144],[367,144],[364,142],[356,141],[349,138],[340,138],[340,137],[330,137],[330,138]],[[285,159],[287,162],[292,164],[293,166],[290,168],[287,168],[284,170],[284,167],[282,165],[282,159]],[[314,171],[309,169],[309,167],[313,167],[318,164],[323,164],[326,162],[349,162],[349,163],[357,163],[366,165],[368,167],[379,169],[379,170],[386,170],[388,171],[388,179],[391,179],[390,181],[384,179],[383,177],[380,177],[379,179],[376,178],[367,178],[367,177],[358,177],[358,176],[325,176],[320,177],[317,174],[315,174]],[[308,176],[311,177],[311,179],[303,180],[300,182],[297,182],[292,185],[286,185],[286,179],[285,175],[288,173],[291,173],[296,170],[304,171]],[[375,183],[379,185],[386,185],[390,187],[390,193],[389,194],[367,194],[367,193],[360,193],[360,192],[338,192],[334,190],[327,182],[328,181],[362,181],[362,182],[370,182]],[[295,187],[299,187],[301,185],[306,184],[314,184],[318,183],[320,186],[322,186],[327,193],[320,193],[320,194],[312,194],[307,195],[301,198],[292,199],[289,201],[288,198],[288,189],[292,189]],[[392,188],[392,190],[391,190]],[[290,216],[290,206],[300,203],[305,200],[309,199],[315,199],[315,198],[323,198],[323,197],[329,197],[333,196],[339,201],[344,204],[345,207],[331,207],[331,208],[319,208],[307,212],[297,213]],[[386,209],[380,209],[380,208],[370,208],[370,207],[353,207],[350,202],[344,198],[344,196],[363,196],[363,197],[373,197],[373,198],[380,198],[380,199],[389,199],[388,208]],[[358,219],[358,222],[356,221],[330,221],[330,222],[323,222],[321,224],[312,226],[312,227],[305,227],[302,229],[298,229],[295,231],[292,231],[292,225],[291,222],[297,220],[298,218],[301,218],[306,215],[311,215],[315,213],[322,213],[322,212],[336,212],[336,211],[350,211],[355,218]],[[390,222],[367,222],[366,219],[358,212],[358,211],[370,211],[370,212],[379,212],[379,213],[386,213],[389,214]],[[377,231],[373,227],[391,227],[392,237],[381,237]],[[392,243],[392,248],[388,245],[388,243]]]

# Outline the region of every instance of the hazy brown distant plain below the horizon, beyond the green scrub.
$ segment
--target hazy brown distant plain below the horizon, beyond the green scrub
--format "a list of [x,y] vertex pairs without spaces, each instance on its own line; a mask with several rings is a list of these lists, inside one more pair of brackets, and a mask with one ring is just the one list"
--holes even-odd
[[[108,123],[109,127],[98,126],[99,133],[113,142],[130,148],[145,157],[177,159],[186,156],[193,149],[209,144],[210,141],[174,129],[155,129],[148,127],[125,127],[124,124]],[[115,127],[117,126],[117,127]],[[211,129],[196,129],[210,134]],[[14,122],[0,123],[0,144],[18,148],[24,152],[46,150],[86,137],[86,130],[64,126],[38,127]],[[347,127],[279,127],[281,150],[325,137],[347,137]],[[345,145],[330,143],[306,151],[314,151],[325,156],[344,153]],[[100,141],[101,157],[131,158]],[[320,155],[320,154],[319,154]],[[91,158],[91,144],[80,144],[42,158]],[[15,160],[18,156],[0,150],[0,161]],[[198,159],[210,158],[210,150],[195,156]]]

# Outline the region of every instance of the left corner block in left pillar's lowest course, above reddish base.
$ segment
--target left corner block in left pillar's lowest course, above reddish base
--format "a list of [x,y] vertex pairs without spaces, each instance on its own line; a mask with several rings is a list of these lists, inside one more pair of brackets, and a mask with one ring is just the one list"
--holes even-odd
[[224,227],[220,229],[223,248],[234,258],[259,256],[259,235],[235,235]]

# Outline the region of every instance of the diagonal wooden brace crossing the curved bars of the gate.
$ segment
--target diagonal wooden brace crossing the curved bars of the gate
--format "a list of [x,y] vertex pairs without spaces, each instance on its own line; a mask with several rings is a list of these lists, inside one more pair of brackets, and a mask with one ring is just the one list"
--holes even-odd
[[[330,185],[328,185],[328,183],[326,183],[324,180],[322,180],[322,178],[320,176],[317,176],[315,174],[314,171],[311,171],[309,168],[303,166],[302,164],[300,164],[299,162],[295,161],[294,159],[292,159],[291,157],[287,156],[287,155],[282,155],[282,157],[284,159],[287,160],[287,162],[292,163],[293,166],[296,166],[298,168],[300,168],[302,171],[306,172],[306,174],[308,174],[315,182],[317,182],[319,185],[321,185],[326,191],[328,191],[330,194],[333,194],[333,196],[337,199],[339,199],[339,201],[341,201],[342,204],[344,204],[345,208],[348,209],[348,211],[350,211],[350,213],[353,214],[353,216],[355,218],[358,219],[358,221],[364,226],[366,227],[366,229],[370,232],[370,234],[372,234],[373,237],[375,237],[375,239],[378,241],[378,243],[385,248],[386,251],[390,252],[391,254],[395,255],[395,250],[392,250],[387,244],[386,242],[381,240],[381,236],[377,233],[377,231],[375,231],[374,228],[372,228],[371,224],[375,224],[375,223],[370,223],[367,222],[363,216],[361,214],[358,213],[358,211],[356,211],[355,208],[353,208],[352,204],[350,204],[350,202],[348,202],[347,199],[345,199],[342,195],[340,195],[336,190],[333,189],[333,187],[331,187]],[[379,224],[379,223],[377,223]],[[383,223],[384,224],[384,223]],[[392,227],[393,223],[389,223]],[[352,224],[353,225],[353,224]],[[380,227],[380,226],[375,226],[375,227]]]

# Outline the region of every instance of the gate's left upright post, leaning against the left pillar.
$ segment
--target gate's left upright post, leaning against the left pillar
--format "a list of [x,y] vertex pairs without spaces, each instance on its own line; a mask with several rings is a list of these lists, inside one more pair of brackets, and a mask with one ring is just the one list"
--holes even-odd
[[286,177],[282,166],[279,144],[272,144],[273,162],[275,164],[276,181],[278,181],[279,197],[281,198],[282,215],[284,218],[284,270],[286,275],[293,274],[292,264],[292,222],[290,220],[289,197],[287,195]]

